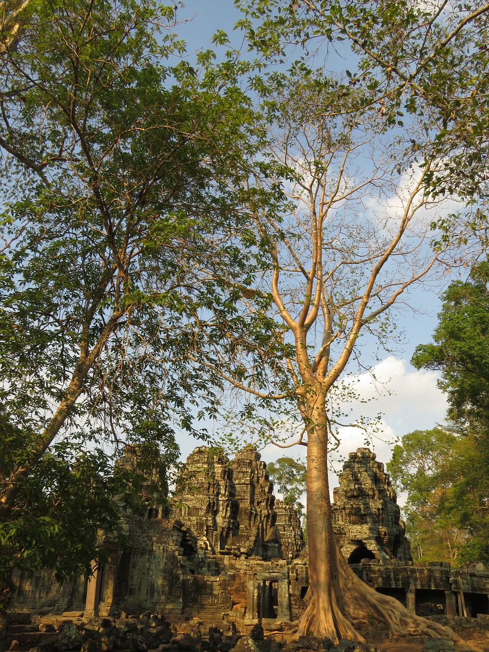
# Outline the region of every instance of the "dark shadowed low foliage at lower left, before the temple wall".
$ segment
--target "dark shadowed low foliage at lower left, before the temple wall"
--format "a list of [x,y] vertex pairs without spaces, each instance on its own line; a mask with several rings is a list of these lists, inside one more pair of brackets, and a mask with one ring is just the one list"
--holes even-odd
[[106,467],[106,456],[57,453],[42,457],[23,483],[10,519],[0,524],[2,577],[10,576],[12,558],[21,573],[53,568],[60,579],[86,574],[91,559],[106,556],[99,530],[116,541],[121,535],[115,498],[123,485]]

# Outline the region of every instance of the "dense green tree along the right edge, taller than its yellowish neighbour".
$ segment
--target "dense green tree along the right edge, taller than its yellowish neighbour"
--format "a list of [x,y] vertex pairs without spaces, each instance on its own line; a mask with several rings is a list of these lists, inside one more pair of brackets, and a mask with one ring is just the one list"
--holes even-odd
[[[450,518],[469,533],[460,559],[489,559],[486,481],[489,433],[489,265],[478,263],[466,281],[452,282],[443,293],[434,343],[420,344],[412,363],[441,372],[448,415],[462,432],[451,460]],[[445,507],[447,511],[449,507]]]

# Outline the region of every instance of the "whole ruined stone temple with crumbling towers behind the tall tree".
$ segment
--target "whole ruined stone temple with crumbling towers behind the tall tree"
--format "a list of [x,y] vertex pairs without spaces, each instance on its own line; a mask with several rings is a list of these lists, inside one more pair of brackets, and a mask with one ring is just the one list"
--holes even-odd
[[[121,464],[130,463],[130,456]],[[105,545],[104,566],[57,584],[45,572],[19,578],[13,609],[119,617],[160,614],[168,621],[226,621],[237,630],[259,621],[297,619],[305,609],[307,553],[297,514],[273,494],[267,467],[246,447],[233,460],[196,448],[173,511],[145,492],[145,513],[126,514],[127,540]],[[367,448],[349,454],[334,490],[334,530],[364,582],[419,615],[489,614],[489,570],[411,561],[396,494]]]

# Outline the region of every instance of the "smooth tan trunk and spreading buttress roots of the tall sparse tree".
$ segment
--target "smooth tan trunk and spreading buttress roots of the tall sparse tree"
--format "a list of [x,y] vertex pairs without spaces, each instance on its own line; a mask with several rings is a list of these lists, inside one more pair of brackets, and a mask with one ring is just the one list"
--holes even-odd
[[[322,403],[322,404],[321,404]],[[364,584],[344,559],[333,530],[327,473],[327,419],[324,401],[316,397],[308,409],[311,423],[307,445],[307,530],[309,545],[308,606],[299,634],[363,641],[354,625],[374,620],[391,634],[426,635],[460,641],[447,627],[408,611],[402,604]]]

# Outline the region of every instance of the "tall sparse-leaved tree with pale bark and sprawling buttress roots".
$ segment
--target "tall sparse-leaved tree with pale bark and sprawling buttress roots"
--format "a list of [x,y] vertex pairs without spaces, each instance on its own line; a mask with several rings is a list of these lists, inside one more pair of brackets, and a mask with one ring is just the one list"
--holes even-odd
[[[290,207],[279,216],[254,207],[265,271],[248,305],[268,318],[255,299],[271,293],[290,351],[282,364],[270,358],[252,364],[246,349],[237,367],[224,357],[205,364],[268,409],[275,404],[280,411],[276,402],[288,400],[282,415],[307,447],[310,599],[299,632],[359,639],[352,623],[375,614],[393,632],[440,633],[349,569],[334,537],[327,478],[335,383],[363,333],[379,342],[389,336],[389,308],[440,256],[422,246],[430,227],[425,216],[418,218],[428,202],[428,171],[411,170],[409,156],[400,163],[402,149],[389,141],[387,119],[359,106],[359,91],[348,83],[299,70],[293,78],[271,75],[261,91],[269,93],[264,99],[275,139],[269,177],[274,169],[288,176]],[[269,376],[264,363],[273,363]],[[293,421],[293,408],[300,422]]]

